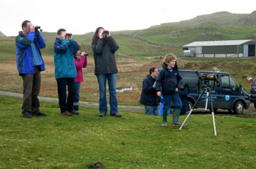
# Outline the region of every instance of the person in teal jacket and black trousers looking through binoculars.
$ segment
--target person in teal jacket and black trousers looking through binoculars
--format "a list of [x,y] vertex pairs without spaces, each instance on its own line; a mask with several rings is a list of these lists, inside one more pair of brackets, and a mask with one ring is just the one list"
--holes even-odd
[[78,115],[73,106],[75,99],[75,77],[77,75],[73,54],[78,52],[79,46],[72,39],[72,35],[67,35],[64,28],[59,29],[57,34],[58,37],[54,42],[54,64],[55,78],[58,85],[59,107],[61,114],[64,116]]

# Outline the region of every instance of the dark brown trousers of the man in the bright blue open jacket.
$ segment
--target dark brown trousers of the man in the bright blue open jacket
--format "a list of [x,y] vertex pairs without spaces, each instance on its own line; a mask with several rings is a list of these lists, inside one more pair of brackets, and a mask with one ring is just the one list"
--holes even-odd
[[23,79],[23,105],[22,113],[37,113],[39,111],[39,100],[37,96],[40,92],[41,73],[39,66],[34,67],[34,74],[22,74]]

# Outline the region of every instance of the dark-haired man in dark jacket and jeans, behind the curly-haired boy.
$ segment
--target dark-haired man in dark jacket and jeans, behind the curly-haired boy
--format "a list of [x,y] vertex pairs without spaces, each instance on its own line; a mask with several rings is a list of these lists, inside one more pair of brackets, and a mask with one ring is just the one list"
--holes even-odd
[[154,116],[159,116],[159,103],[161,103],[155,90],[157,74],[157,68],[149,69],[149,74],[143,80],[143,89],[140,95],[140,103],[145,105],[146,114]]

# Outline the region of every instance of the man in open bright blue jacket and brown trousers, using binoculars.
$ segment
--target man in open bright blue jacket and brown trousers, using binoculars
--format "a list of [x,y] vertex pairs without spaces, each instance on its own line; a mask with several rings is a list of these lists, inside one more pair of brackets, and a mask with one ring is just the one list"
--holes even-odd
[[45,47],[45,40],[29,20],[23,21],[23,31],[15,39],[17,47],[17,68],[23,79],[23,105],[22,115],[31,118],[32,115],[45,117],[46,114],[39,111],[41,74],[45,71],[45,63],[42,60],[40,49]]

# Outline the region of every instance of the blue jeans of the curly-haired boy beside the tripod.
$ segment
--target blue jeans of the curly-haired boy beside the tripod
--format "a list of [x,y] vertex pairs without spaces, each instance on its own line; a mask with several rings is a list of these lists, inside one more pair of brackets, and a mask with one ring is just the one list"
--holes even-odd
[[182,103],[181,98],[178,95],[178,92],[173,93],[173,95],[165,95],[164,98],[164,108],[163,111],[168,111],[170,109],[170,103],[173,102],[175,109],[181,110]]

